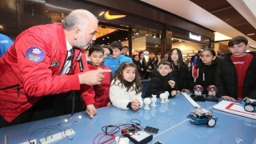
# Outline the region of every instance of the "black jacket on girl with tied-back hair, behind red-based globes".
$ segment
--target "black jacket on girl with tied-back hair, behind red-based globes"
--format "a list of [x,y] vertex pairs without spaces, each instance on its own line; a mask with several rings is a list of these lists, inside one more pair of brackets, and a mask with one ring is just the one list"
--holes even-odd
[[195,68],[196,69],[199,68],[198,78],[196,78],[196,81],[194,82],[194,78],[192,76],[192,67],[191,67],[191,70],[188,74],[189,89],[191,91],[194,91],[193,89],[194,89],[195,85],[201,85],[203,87],[202,94],[207,94],[208,93],[208,91],[207,91],[208,86],[210,86],[210,85],[216,86],[215,82],[214,82],[214,74],[215,74],[215,71],[216,71],[216,68],[217,68],[217,62],[214,62],[211,65],[205,65],[200,60],[197,64],[197,66],[195,66]]

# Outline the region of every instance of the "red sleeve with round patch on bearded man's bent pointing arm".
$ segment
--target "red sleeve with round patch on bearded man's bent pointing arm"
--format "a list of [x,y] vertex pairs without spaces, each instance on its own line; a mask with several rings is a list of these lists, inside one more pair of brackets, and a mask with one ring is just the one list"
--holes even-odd
[[[46,37],[46,38],[45,38]],[[66,47],[66,43],[53,45],[48,42],[46,35],[26,34],[15,42],[18,58],[18,67],[21,73],[21,81],[24,90],[31,96],[44,96],[50,94],[60,94],[70,90],[79,90],[80,84],[78,74],[57,75],[50,70],[50,59],[53,57],[52,50],[61,50]],[[42,62],[34,62],[26,58],[26,52],[36,47],[42,50]],[[58,56],[60,53],[56,53]]]

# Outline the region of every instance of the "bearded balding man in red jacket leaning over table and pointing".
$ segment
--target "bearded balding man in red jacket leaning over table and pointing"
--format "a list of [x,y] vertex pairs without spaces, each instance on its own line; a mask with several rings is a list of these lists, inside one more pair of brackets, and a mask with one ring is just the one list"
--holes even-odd
[[81,97],[93,94],[92,85],[110,71],[88,71],[85,50],[97,30],[94,14],[73,10],[62,23],[19,34],[0,58],[0,127],[66,114],[66,98],[74,90]]

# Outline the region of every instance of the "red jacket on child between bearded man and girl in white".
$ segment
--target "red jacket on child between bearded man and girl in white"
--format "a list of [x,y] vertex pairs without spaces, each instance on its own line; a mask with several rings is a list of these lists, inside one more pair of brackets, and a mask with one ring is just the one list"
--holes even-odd
[[[88,64],[89,70],[97,70],[98,67],[101,67],[104,70],[110,70],[107,66],[93,66],[90,63]],[[83,97],[83,101],[86,105],[94,104],[96,108],[104,107],[110,102],[110,74],[111,73],[103,73],[104,78],[102,79],[102,83],[100,85],[94,85],[95,96],[91,97],[90,94],[85,94]]]

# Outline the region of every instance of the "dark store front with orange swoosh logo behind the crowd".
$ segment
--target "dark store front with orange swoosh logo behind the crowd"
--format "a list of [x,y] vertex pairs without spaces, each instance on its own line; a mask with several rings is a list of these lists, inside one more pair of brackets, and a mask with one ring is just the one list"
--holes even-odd
[[[12,18],[12,22],[3,22],[6,29],[1,32],[12,38],[30,26],[61,22],[71,10],[86,9],[99,20],[95,43],[110,45],[111,42],[120,41],[123,46],[130,47],[130,56],[134,51],[142,50],[146,58],[149,54],[157,54],[161,58],[164,52],[173,47],[188,52],[214,46],[213,31],[140,1],[0,1],[2,14]],[[15,2],[18,5],[14,5]],[[17,23],[14,23],[14,19],[17,19]],[[192,34],[192,38],[200,36],[202,39],[194,40],[188,37],[189,34]],[[193,46],[186,43],[192,43]]]

